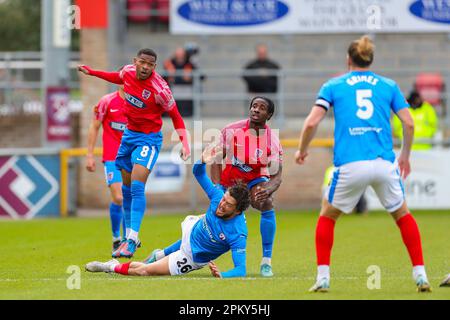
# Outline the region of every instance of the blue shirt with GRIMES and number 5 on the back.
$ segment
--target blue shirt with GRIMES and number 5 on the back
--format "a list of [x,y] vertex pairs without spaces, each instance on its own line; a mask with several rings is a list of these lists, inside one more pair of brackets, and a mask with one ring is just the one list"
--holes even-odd
[[391,110],[409,107],[395,81],[372,71],[352,71],[327,81],[315,104],[334,109],[336,167],[376,158],[394,162]]

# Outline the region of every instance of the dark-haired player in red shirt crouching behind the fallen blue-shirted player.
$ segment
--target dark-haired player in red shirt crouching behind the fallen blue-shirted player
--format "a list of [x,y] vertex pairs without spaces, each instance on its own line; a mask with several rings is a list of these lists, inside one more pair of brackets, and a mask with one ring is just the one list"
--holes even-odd
[[248,119],[231,123],[222,130],[225,169],[222,170],[222,162],[211,166],[212,180],[224,188],[236,181],[246,183],[252,207],[261,212],[260,272],[263,277],[273,276],[272,248],[276,230],[273,197],[281,185],[282,171],[283,149],[278,136],[267,124],[274,112],[272,100],[254,97]]

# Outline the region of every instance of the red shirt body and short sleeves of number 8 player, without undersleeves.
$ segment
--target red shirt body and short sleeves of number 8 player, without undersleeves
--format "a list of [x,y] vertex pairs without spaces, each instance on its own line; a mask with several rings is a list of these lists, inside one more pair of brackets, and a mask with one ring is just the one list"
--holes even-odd
[[136,78],[136,67],[126,65],[120,71],[124,84],[128,129],[144,133],[159,132],[162,114],[175,106],[167,82],[156,72],[146,80]]

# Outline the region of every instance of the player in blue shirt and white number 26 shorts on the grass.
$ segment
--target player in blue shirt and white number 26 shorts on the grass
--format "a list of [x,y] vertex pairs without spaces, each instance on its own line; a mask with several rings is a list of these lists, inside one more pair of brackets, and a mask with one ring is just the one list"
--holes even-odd
[[[181,224],[182,239],[165,250],[152,254],[155,257],[145,262],[120,264],[113,259],[108,262],[90,262],[90,272],[114,272],[134,276],[180,275],[209,265],[217,278],[244,277],[246,275],[247,224],[244,211],[250,205],[250,195],[245,184],[235,184],[226,192],[215,186],[206,174],[206,164],[211,163],[217,147],[208,147],[202,161],[194,165],[193,173],[205,193],[210,205],[206,214],[187,216]],[[231,250],[234,268],[220,272],[213,260]]]

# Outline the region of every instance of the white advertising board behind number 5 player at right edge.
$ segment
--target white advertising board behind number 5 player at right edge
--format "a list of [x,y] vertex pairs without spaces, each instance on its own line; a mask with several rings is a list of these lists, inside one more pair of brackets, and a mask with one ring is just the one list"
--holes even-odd
[[[413,151],[412,172],[404,181],[404,192],[411,209],[449,209],[450,150]],[[370,210],[383,210],[372,188],[366,192]]]

